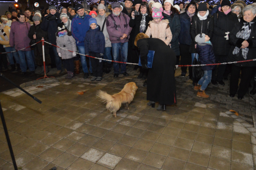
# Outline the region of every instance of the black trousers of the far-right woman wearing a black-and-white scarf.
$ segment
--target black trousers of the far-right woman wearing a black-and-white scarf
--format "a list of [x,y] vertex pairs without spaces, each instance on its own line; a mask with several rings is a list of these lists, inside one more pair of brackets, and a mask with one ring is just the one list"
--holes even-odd
[[[230,77],[230,94],[238,94],[239,97],[243,97],[250,85],[251,78],[253,76],[253,69],[254,67],[238,67],[235,65],[232,65],[232,71],[231,71],[231,77]],[[239,84],[239,90],[238,89],[238,81],[240,77],[240,71],[241,71],[241,81]]]

